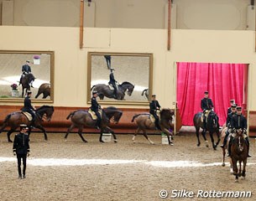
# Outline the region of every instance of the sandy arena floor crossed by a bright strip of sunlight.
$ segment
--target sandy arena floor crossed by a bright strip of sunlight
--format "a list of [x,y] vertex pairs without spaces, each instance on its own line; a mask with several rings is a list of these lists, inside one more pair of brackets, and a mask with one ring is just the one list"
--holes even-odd
[[[234,183],[228,166],[222,167],[222,151],[196,147],[196,136],[175,137],[175,145],[161,144],[160,136],[143,136],[137,143],[132,135],[118,135],[118,143],[98,142],[99,135],[50,133],[44,142],[42,133],[31,135],[31,156],[27,178],[18,179],[16,158],[6,133],[0,135],[0,199],[3,200],[162,200],[159,191],[166,189],[193,191],[251,191],[251,198],[222,200],[255,200],[256,153],[251,140],[252,158],[245,180]],[[208,136],[207,136],[208,137]],[[209,137],[208,137],[209,138]],[[12,135],[13,139],[13,135]],[[55,159],[53,159],[55,158]],[[42,160],[44,159],[44,160]],[[71,160],[73,159],[73,160]],[[75,159],[75,160],[74,160]],[[94,160],[93,160],[94,159]],[[217,162],[217,163],[215,163]],[[208,198],[207,200],[217,198]],[[165,200],[206,200],[206,198],[166,198]]]

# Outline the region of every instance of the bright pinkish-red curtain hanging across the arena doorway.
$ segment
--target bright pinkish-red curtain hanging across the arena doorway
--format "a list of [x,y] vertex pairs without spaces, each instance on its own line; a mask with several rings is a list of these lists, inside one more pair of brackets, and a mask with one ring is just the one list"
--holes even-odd
[[209,91],[222,125],[230,100],[234,99],[238,106],[243,104],[247,70],[248,64],[177,63],[177,104],[182,125],[193,125],[193,116],[201,111],[205,90]]

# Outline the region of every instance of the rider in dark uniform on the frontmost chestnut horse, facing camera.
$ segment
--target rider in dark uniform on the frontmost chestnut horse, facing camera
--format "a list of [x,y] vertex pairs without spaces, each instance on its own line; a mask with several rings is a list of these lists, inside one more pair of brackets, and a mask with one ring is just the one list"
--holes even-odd
[[[251,155],[249,155],[250,142],[247,137],[247,120],[242,114],[241,106],[237,107],[237,112],[238,112],[238,114],[236,116],[232,116],[232,118],[231,118],[231,129],[232,129],[232,131],[237,131],[237,130],[241,129],[243,134],[246,135],[245,141],[248,144],[248,157],[251,157]],[[230,137],[229,146],[228,146],[229,153],[231,151],[231,142],[232,142],[232,136]]]

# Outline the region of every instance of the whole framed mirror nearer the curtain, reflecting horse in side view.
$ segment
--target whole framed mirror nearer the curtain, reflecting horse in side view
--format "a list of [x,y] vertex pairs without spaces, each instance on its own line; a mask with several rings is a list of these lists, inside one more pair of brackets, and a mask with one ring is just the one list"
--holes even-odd
[[88,90],[102,103],[149,104],[153,54],[88,53]]

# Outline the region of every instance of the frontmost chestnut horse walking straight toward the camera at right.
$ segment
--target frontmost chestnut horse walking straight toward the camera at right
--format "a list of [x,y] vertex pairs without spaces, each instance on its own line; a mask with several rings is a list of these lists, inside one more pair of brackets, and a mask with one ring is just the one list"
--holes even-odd
[[[238,177],[242,176],[242,179],[245,178],[245,168],[248,157],[248,144],[243,137],[243,131],[236,131],[236,136],[232,140],[231,145],[231,158],[233,164],[233,174],[236,176],[236,182],[238,182]],[[239,173],[238,173],[238,164],[239,162]],[[242,162],[243,162],[243,172],[242,171]]]

